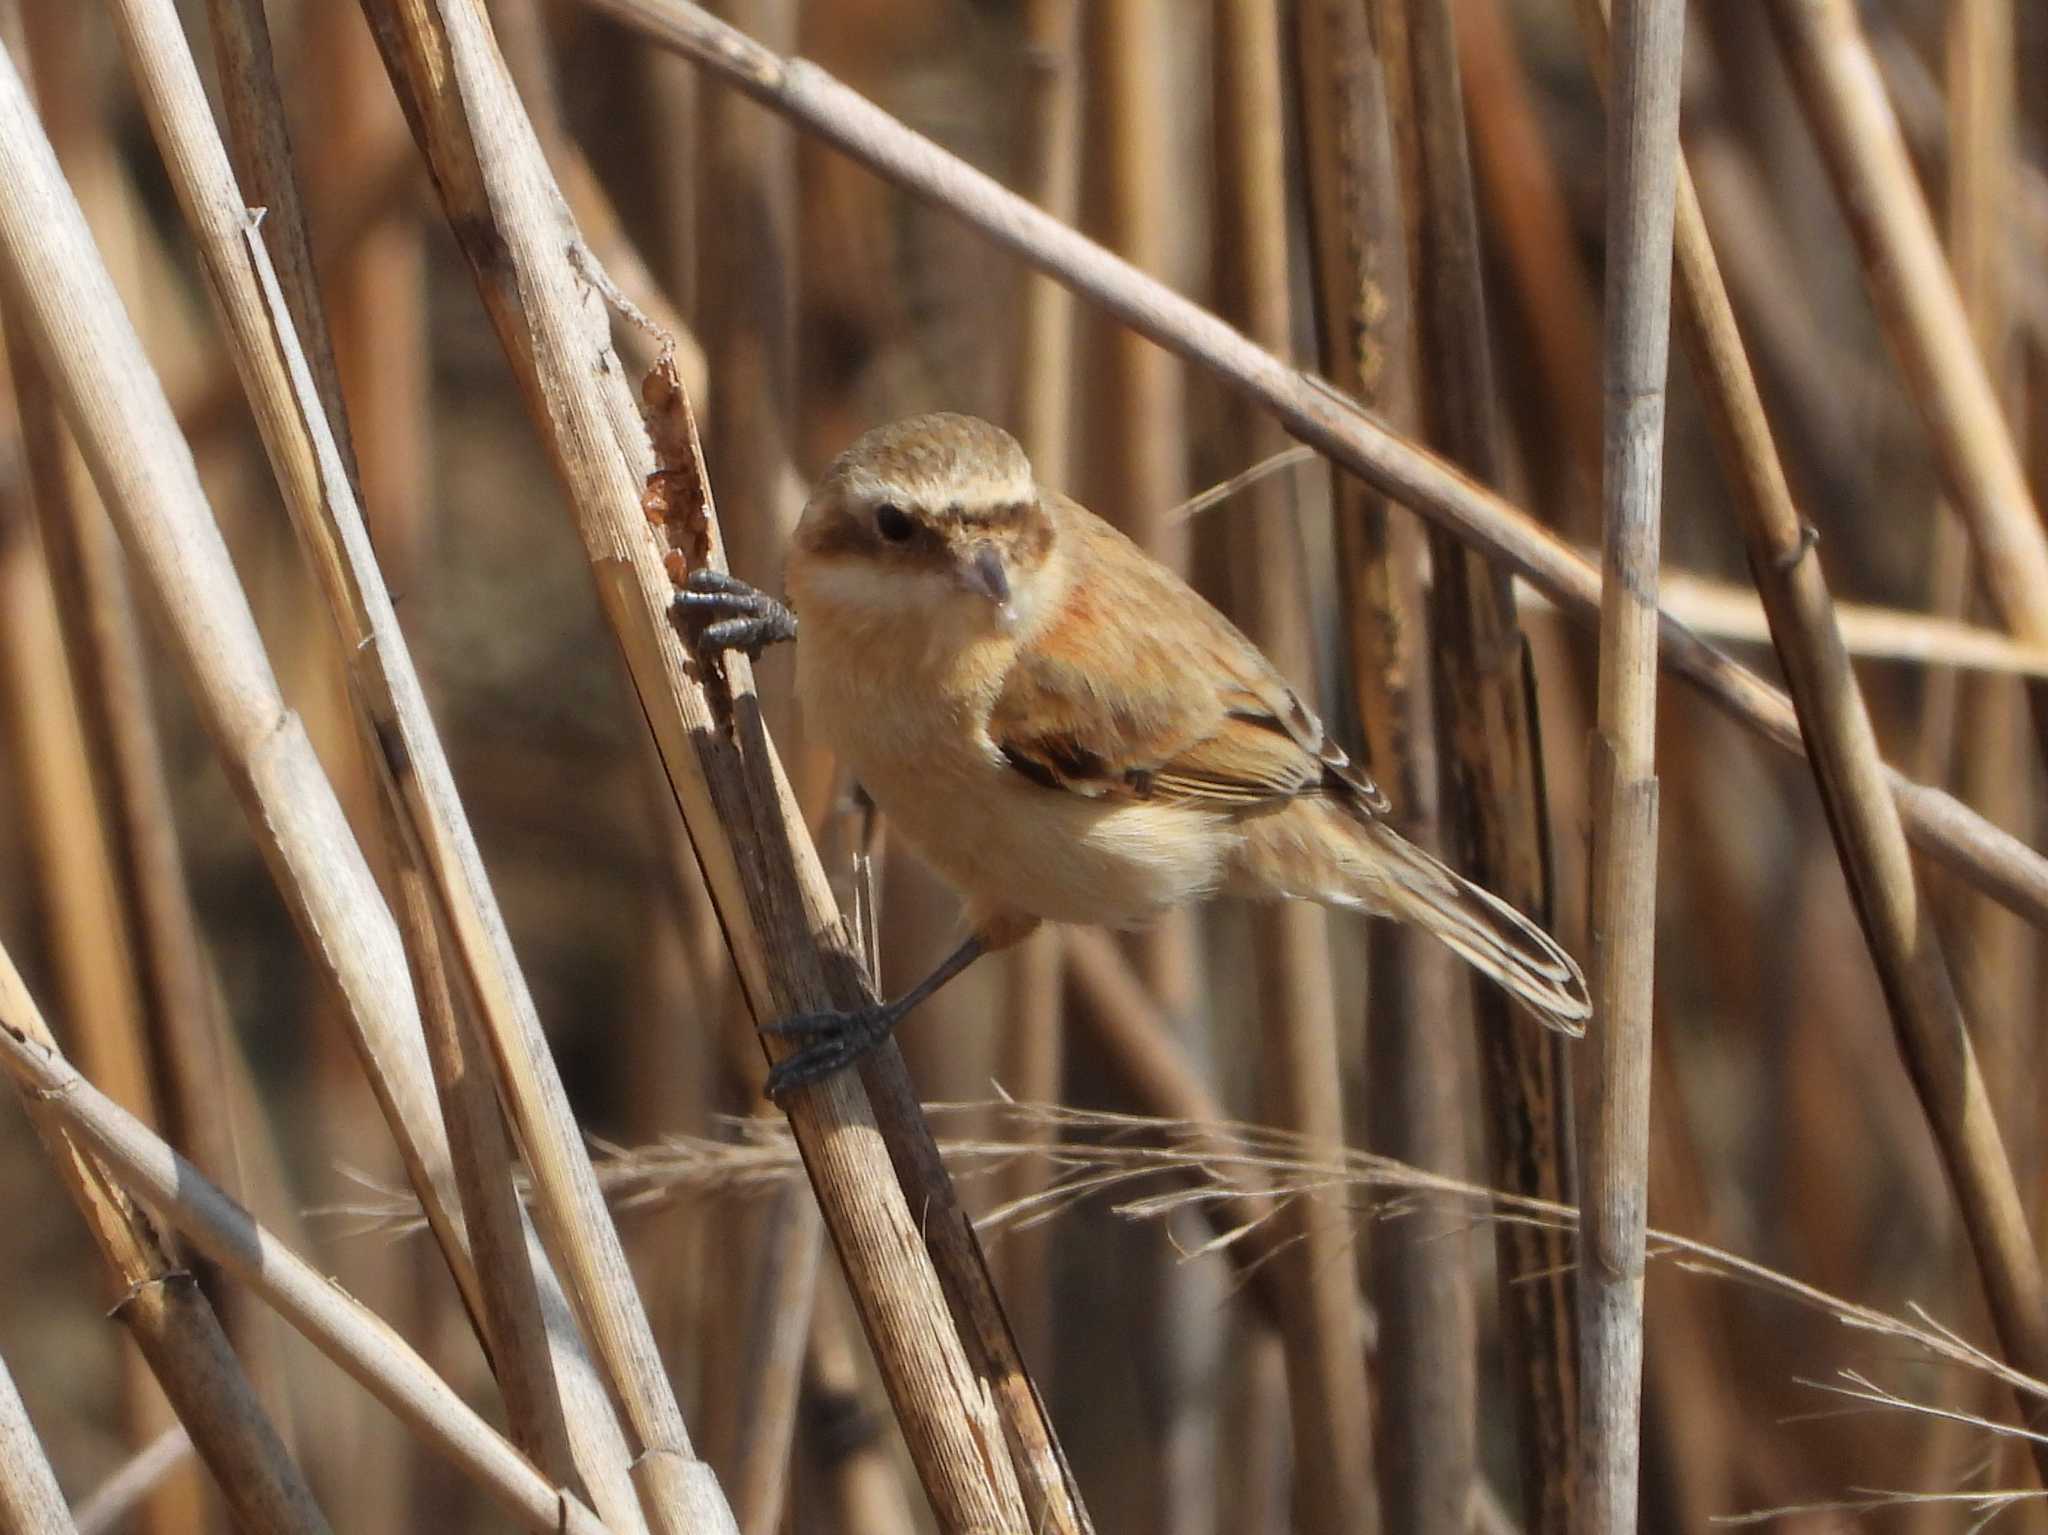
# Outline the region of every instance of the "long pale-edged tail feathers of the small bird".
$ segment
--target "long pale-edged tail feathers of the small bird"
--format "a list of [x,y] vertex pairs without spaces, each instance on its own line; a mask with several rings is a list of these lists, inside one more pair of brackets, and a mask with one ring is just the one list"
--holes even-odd
[[1593,999],[1577,960],[1554,937],[1393,827],[1356,819],[1352,825],[1370,864],[1366,905],[1434,933],[1548,1027],[1573,1038],[1585,1034]]

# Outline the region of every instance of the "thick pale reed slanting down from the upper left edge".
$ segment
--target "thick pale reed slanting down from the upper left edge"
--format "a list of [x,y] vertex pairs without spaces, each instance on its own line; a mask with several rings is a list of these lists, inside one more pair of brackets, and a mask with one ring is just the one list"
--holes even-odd
[[307,948],[344,997],[408,1173],[461,1275],[446,1142],[391,917],[276,690],[190,450],[147,370],[12,63],[0,70],[0,264],[129,557],[154,587],[229,780]]

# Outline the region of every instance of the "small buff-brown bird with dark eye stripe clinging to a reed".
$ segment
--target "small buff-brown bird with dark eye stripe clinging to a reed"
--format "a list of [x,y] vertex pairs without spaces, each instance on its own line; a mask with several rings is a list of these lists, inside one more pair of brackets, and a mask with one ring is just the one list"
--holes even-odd
[[[969,937],[893,1003],[786,1019],[770,1091],[856,1060],[975,958],[1040,921],[1135,927],[1212,894],[1427,929],[1579,1034],[1579,966],[1389,823],[1386,796],[1231,620],[1032,479],[1008,432],[915,415],[840,454],[788,555],[805,722],[967,898]],[[678,606],[707,649],[797,616],[717,571]]]

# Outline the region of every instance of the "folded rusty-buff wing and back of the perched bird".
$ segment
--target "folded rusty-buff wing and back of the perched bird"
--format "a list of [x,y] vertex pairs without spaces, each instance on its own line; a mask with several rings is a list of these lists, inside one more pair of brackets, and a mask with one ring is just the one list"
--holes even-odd
[[1071,501],[1077,577],[1018,653],[989,714],[1004,759],[1044,788],[1249,808],[1386,796],[1260,649],[1192,587]]

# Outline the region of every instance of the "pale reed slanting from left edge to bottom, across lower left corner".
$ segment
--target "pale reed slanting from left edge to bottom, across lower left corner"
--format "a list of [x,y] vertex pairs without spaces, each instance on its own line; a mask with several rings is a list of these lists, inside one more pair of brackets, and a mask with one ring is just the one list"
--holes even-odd
[[[51,1046],[0,950],[0,1070],[109,1175],[268,1302],[420,1439],[537,1535],[602,1535],[578,1498],[551,1486],[375,1312],[326,1279],[207,1177],[100,1093]],[[199,1433],[195,1429],[195,1441]],[[203,1441],[199,1441],[203,1443]],[[287,1461],[289,1463],[289,1461]],[[248,1529],[276,1529],[258,1519]]]

